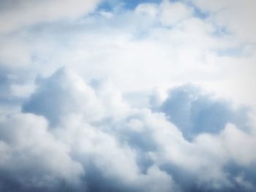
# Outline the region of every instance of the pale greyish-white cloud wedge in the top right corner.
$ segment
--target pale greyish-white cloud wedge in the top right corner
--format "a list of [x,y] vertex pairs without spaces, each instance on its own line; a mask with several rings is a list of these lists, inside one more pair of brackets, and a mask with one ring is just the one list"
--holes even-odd
[[256,27],[253,18],[256,3],[254,0],[205,1],[194,0],[197,7],[209,13],[212,22],[235,34],[241,41],[254,42]]

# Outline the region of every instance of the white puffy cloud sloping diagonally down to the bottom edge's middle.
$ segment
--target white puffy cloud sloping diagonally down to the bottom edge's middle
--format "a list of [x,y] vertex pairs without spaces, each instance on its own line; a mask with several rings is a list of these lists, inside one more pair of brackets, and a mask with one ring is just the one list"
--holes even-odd
[[159,188],[170,191],[176,188],[172,177],[158,166],[151,165],[142,172],[137,163],[140,154],[121,143],[113,128],[106,124],[104,121],[98,127],[90,126],[72,117],[54,130],[85,167],[83,188],[88,191],[157,191]]

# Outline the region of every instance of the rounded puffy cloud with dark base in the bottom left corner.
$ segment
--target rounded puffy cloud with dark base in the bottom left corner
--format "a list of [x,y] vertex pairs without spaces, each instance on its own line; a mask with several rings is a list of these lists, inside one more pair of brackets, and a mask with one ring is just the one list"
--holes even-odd
[[1,117],[0,127],[2,191],[47,191],[79,183],[83,166],[48,132],[44,118],[14,114]]

